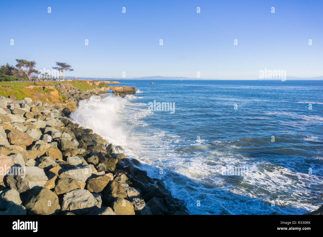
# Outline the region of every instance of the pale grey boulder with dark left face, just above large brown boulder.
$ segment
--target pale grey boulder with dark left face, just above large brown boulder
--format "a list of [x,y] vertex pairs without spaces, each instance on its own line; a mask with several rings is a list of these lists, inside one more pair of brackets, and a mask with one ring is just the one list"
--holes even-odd
[[16,171],[15,175],[8,175],[6,181],[10,188],[19,193],[35,186],[43,186],[48,180],[45,172],[35,166],[17,167]]

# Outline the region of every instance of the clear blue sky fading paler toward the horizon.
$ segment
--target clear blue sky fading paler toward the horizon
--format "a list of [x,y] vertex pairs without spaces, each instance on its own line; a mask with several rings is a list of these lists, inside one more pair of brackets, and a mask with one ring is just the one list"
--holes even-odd
[[322,12],[323,1],[7,1],[0,64],[59,61],[74,68],[66,75],[101,78],[322,76]]

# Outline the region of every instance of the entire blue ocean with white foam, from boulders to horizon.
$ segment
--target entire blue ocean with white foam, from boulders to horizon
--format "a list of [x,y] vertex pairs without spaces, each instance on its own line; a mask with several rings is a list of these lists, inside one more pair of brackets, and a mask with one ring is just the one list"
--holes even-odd
[[[322,205],[323,81],[120,82],[138,93],[92,96],[72,118],[123,146],[191,214],[304,214]],[[154,101],[174,110],[151,111]]]

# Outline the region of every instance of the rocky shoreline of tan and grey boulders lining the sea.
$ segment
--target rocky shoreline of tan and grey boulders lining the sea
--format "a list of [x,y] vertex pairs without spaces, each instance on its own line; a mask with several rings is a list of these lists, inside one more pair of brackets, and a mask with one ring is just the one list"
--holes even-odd
[[0,214],[189,214],[122,147],[69,119],[80,100],[108,88],[116,96],[136,93],[60,83],[56,89],[66,98],[60,104],[0,96]]

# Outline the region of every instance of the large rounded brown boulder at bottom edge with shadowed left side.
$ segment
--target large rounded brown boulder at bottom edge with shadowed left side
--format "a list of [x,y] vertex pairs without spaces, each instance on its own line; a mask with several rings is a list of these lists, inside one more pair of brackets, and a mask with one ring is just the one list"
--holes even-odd
[[38,187],[28,190],[24,206],[29,215],[50,215],[60,210],[58,197],[47,188]]

